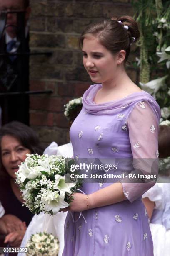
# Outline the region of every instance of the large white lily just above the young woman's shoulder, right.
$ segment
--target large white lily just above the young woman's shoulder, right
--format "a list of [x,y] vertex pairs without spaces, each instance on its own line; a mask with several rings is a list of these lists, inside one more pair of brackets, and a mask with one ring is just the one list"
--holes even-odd
[[153,97],[155,97],[158,90],[165,85],[165,80],[167,77],[168,77],[168,75],[158,78],[158,79],[151,80],[150,82],[148,82],[146,84],[143,84],[140,82],[140,85],[143,87],[143,90],[152,94]]

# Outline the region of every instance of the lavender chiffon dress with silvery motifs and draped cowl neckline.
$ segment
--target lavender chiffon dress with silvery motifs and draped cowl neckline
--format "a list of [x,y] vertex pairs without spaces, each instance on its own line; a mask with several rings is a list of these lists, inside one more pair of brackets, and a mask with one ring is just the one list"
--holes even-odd
[[[160,108],[147,92],[135,92],[120,100],[95,104],[101,84],[83,95],[83,107],[70,129],[75,158],[158,158]],[[65,221],[62,256],[153,256],[148,215],[141,195],[154,183],[123,183],[127,200],[83,211],[73,223]],[[91,194],[108,183],[85,183]],[[77,220],[79,212],[73,212]]]

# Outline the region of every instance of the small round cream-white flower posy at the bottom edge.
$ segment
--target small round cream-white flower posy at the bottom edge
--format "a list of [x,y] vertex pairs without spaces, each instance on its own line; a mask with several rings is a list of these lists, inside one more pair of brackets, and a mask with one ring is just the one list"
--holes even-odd
[[57,256],[59,241],[50,233],[33,234],[27,242],[28,256]]

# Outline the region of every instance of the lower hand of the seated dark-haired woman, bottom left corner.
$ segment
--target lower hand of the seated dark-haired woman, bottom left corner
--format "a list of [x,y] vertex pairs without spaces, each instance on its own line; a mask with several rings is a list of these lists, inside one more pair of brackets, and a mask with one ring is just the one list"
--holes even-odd
[[13,231],[5,237],[4,243],[9,243],[11,247],[20,247],[24,235],[25,230]]

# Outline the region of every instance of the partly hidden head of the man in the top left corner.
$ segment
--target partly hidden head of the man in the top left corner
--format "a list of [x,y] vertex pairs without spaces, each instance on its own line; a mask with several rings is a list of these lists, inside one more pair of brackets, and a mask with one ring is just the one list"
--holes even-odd
[[[0,0],[0,11],[23,11],[24,0]],[[7,14],[7,33],[15,33],[17,26],[17,14]]]

